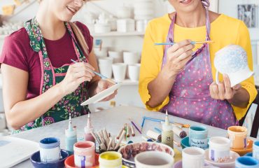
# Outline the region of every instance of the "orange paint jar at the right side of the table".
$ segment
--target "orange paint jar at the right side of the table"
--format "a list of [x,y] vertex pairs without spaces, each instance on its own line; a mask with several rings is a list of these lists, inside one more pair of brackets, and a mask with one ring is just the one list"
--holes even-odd
[[247,129],[241,126],[228,127],[228,137],[230,139],[230,148],[246,148]]

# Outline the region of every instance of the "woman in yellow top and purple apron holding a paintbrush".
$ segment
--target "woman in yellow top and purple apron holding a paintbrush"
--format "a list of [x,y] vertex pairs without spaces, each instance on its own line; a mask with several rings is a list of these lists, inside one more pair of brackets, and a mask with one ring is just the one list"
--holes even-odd
[[[253,69],[251,43],[244,22],[207,8],[208,0],[169,0],[176,13],[148,23],[141,56],[139,93],[155,111],[227,129],[238,125],[257,94],[253,77],[230,87],[228,76],[215,80],[214,55],[237,44]],[[213,40],[193,45],[192,41]],[[154,45],[165,41],[174,45]],[[180,42],[179,42],[180,41]]]

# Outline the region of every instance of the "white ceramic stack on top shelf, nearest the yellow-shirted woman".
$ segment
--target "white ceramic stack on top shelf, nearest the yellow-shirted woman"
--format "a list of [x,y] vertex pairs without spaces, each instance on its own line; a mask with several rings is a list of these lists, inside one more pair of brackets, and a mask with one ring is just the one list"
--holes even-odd
[[151,20],[154,18],[153,0],[135,0],[134,1],[134,19]]

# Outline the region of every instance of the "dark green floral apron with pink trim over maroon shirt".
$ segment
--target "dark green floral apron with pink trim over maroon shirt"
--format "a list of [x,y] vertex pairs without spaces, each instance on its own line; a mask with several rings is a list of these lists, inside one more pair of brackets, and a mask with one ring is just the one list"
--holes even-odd
[[[64,25],[66,26],[66,29],[69,31],[69,34],[72,38],[73,48],[76,52],[78,62],[88,62],[87,57],[85,57],[82,50],[80,50],[80,45],[78,45],[76,41],[76,37],[73,34],[71,26],[68,22],[64,22]],[[25,22],[25,29],[29,35],[31,48],[35,52],[38,52],[38,56],[41,62],[40,94],[43,94],[50,87],[60,83],[64,79],[70,64],[65,64],[59,68],[52,66],[48,57],[45,42],[43,40],[43,35],[41,34],[41,29],[38,26],[36,18]],[[59,102],[57,102],[57,104],[55,104],[55,106],[44,113],[43,116],[37,118],[34,121],[31,121],[27,125],[21,127],[20,130],[16,130],[15,132],[31,130],[32,128],[50,125],[52,123],[66,120],[69,118],[69,113],[71,113],[72,118],[87,114],[89,112],[88,107],[80,106],[80,102],[82,102],[83,99],[87,99],[87,85],[87,82],[81,83],[74,92],[63,97]]]

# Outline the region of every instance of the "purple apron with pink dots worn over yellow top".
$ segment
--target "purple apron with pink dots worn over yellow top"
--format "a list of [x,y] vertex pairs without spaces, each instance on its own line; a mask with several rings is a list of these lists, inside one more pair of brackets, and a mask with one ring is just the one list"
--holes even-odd
[[[209,11],[206,10],[207,38],[210,40]],[[172,19],[167,35],[167,41],[174,42],[174,23],[176,15]],[[162,67],[167,62],[166,45]],[[161,111],[168,111],[173,116],[194,120],[214,127],[228,129],[237,125],[232,106],[226,100],[212,99],[209,93],[209,85],[213,82],[211,73],[211,60],[209,44],[203,44],[193,53],[192,59],[186,67],[176,76],[176,81],[169,93],[169,104]]]

